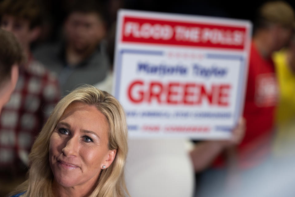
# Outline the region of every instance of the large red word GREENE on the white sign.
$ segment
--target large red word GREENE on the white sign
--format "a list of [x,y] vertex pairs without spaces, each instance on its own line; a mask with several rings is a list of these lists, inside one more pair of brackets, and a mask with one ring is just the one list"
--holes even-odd
[[[230,84],[211,85],[211,88],[200,83],[170,82],[163,84],[152,81],[144,86],[144,81],[136,80],[128,86],[128,99],[132,103],[167,103],[168,105],[202,105],[206,100],[208,105],[227,107],[230,105]],[[148,87],[148,89],[144,89]]]

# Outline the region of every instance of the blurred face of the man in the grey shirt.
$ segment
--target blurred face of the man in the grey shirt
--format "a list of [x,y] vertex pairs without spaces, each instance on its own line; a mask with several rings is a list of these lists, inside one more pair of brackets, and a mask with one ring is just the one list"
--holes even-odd
[[65,21],[65,34],[74,50],[96,46],[105,34],[104,25],[95,13],[73,12]]

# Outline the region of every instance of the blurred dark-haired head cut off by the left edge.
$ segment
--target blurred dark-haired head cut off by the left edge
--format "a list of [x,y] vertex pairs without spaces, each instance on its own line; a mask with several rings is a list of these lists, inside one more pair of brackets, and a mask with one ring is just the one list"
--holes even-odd
[[0,29],[0,113],[9,101],[18,81],[18,66],[23,59],[23,51],[15,36]]

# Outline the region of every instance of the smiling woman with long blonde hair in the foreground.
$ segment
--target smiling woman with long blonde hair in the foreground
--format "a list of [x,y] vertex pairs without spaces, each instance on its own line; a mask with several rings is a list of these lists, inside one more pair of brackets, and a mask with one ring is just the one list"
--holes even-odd
[[29,178],[11,195],[129,196],[127,126],[111,94],[82,86],[54,108],[29,155]]

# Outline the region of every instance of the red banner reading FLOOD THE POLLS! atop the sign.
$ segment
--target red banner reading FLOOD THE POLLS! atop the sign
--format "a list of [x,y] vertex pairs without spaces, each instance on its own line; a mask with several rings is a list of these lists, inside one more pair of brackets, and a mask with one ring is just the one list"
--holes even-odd
[[122,42],[240,49],[246,27],[147,18],[123,18]]

